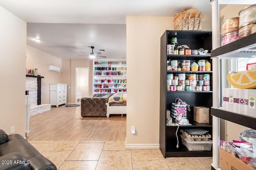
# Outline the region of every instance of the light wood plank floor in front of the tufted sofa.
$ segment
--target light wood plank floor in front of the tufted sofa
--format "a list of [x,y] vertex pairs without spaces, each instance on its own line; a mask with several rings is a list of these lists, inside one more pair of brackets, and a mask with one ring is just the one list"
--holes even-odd
[[125,141],[126,116],[82,117],[81,107],[51,107],[30,117],[28,141]]

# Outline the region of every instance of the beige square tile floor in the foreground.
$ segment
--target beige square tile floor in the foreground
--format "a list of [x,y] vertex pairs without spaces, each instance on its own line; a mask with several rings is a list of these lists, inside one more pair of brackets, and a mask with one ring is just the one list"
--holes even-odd
[[29,141],[59,170],[210,170],[212,157],[164,158],[125,141]]

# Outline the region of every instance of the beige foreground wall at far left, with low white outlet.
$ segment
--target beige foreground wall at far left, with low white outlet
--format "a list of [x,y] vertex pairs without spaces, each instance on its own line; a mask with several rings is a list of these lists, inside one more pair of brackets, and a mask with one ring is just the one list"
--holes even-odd
[[0,6],[0,129],[25,137],[26,22]]

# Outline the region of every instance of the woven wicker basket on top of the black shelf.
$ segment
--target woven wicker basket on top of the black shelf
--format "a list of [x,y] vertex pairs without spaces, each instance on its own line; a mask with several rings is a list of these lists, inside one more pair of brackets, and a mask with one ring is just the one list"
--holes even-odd
[[200,31],[202,28],[202,12],[192,13],[183,11],[174,15],[174,30],[193,30]]

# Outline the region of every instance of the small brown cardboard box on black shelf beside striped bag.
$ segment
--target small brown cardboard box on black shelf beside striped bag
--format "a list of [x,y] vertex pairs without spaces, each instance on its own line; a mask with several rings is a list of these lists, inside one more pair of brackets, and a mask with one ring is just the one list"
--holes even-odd
[[209,108],[194,106],[194,121],[198,123],[209,123]]

